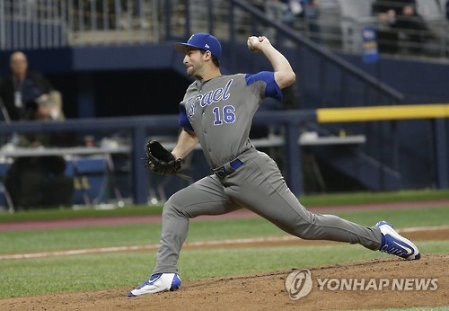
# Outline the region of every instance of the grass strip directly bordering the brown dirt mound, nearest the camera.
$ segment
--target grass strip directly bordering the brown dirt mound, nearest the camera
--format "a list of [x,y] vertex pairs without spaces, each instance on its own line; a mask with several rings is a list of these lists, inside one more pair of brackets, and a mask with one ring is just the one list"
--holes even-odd
[[[184,250],[182,280],[232,276],[264,271],[379,258],[360,245],[245,247]],[[418,243],[423,252],[442,253],[449,241]],[[155,252],[102,253],[0,261],[0,298],[98,289],[132,289],[153,269]],[[126,292],[123,293],[126,295]]]

